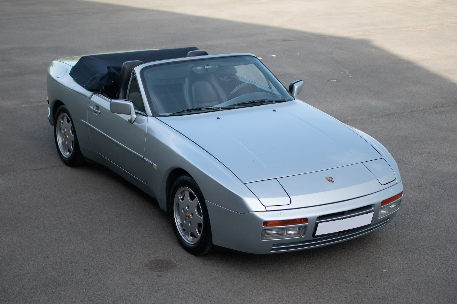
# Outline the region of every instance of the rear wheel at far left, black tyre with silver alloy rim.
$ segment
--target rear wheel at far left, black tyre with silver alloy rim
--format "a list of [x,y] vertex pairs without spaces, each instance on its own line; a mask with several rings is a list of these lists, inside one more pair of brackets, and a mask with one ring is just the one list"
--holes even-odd
[[64,105],[58,107],[54,120],[54,141],[62,162],[67,166],[79,166],[84,163],[74,124],[69,111]]

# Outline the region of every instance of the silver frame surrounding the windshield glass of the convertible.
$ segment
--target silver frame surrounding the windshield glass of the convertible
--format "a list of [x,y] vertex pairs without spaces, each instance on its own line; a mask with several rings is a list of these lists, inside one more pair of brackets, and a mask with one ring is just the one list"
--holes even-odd
[[[260,61],[259,58],[257,58],[255,55],[253,54],[250,54],[250,53],[232,53],[232,54],[218,54],[218,55],[206,55],[206,56],[195,56],[195,57],[187,57],[187,58],[174,58],[174,59],[167,59],[167,60],[160,60],[160,61],[155,61],[155,62],[149,62],[149,63],[143,63],[141,65],[138,65],[137,67],[134,68],[134,71],[137,75],[139,75],[140,77],[138,77],[138,83],[140,85],[140,88],[141,88],[141,93],[143,94],[143,100],[147,100],[147,103],[148,103],[148,106],[149,106],[149,110],[148,112],[150,112],[150,114],[154,117],[157,117],[157,116],[168,116],[170,113],[159,113],[157,112],[157,110],[154,108],[154,102],[153,100],[151,100],[151,94],[149,93],[149,89],[148,89],[148,86],[146,85],[148,83],[148,81],[150,81],[149,79],[145,79],[145,73],[149,70],[149,68],[151,67],[154,67],[154,66],[160,66],[160,65],[167,65],[167,64],[170,64],[170,63],[181,63],[181,62],[188,62],[188,61],[195,61],[195,62],[198,62],[198,61],[205,61],[205,60],[208,60],[208,59],[218,59],[218,58],[235,58],[235,57],[251,57],[251,58],[255,58],[256,59],[256,63],[258,63],[260,67],[257,67],[259,69],[259,71],[266,77],[266,80],[271,82],[274,86],[278,87],[277,89],[283,89],[283,92],[282,93],[286,93],[287,92],[287,98],[286,100],[287,101],[290,101],[290,100],[294,100],[295,98],[292,96],[292,94],[290,94],[290,92],[286,89],[286,87],[281,83],[281,81],[279,81],[279,79],[277,79],[277,77],[270,71],[269,68],[266,67],[266,65],[264,63],[262,63]],[[262,71],[262,68],[264,68],[264,71]],[[269,77],[268,77],[269,76]],[[249,80],[249,79],[248,79]],[[276,82],[276,84],[275,84]],[[260,84],[262,85],[262,84]],[[285,96],[283,96],[285,97]],[[217,105],[214,105],[214,106],[217,106]],[[238,108],[235,108],[235,109],[238,109]],[[185,109],[183,109],[185,110]],[[228,109],[225,109],[225,110],[228,110]],[[194,115],[194,114],[199,114],[201,112],[195,112],[195,113],[189,113],[187,115]],[[149,114],[149,113],[148,113]],[[179,116],[179,115],[175,115],[175,116]]]

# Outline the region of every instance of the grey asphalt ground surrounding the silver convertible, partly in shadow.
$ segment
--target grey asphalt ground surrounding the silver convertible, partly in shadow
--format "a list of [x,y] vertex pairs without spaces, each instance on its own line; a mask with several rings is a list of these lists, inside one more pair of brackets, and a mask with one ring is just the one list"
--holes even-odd
[[[0,0],[0,303],[455,303],[456,6],[354,0],[338,15],[311,2],[309,28],[322,31],[220,16],[245,16],[243,2]],[[367,15],[351,29],[351,14]],[[392,17],[402,14],[414,22]],[[283,84],[303,79],[300,99],[383,143],[404,183],[394,220],[307,251],[195,257],[146,194],[99,165],[60,161],[47,119],[53,59],[185,46],[254,53]]]

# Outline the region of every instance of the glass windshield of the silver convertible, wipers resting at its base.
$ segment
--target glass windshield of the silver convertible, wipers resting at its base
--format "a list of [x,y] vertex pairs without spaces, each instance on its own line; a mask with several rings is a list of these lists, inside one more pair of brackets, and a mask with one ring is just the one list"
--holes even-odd
[[150,105],[158,115],[188,115],[293,100],[253,56],[165,63],[143,68],[141,74]]

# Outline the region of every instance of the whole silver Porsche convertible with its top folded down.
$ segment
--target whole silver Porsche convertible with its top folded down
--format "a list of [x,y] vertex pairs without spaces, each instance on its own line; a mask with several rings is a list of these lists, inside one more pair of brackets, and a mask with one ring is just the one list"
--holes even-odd
[[392,220],[399,169],[371,136],[296,99],[252,54],[197,47],[53,61],[48,119],[69,166],[103,164],[170,213],[188,252],[290,252]]

